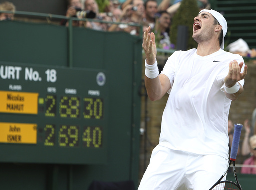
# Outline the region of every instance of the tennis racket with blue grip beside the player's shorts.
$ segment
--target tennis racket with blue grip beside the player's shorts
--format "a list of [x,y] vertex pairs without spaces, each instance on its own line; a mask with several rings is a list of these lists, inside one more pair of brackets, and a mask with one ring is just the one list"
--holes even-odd
[[[239,181],[237,178],[236,170],[235,170],[235,160],[238,152],[241,131],[242,131],[242,124],[239,124],[239,123],[234,124],[234,137],[233,137],[233,142],[231,147],[229,164],[226,168],[225,173],[209,190],[242,190],[241,185],[239,184]],[[233,172],[234,172],[236,183],[228,180],[221,181],[226,175],[229,167],[231,166],[231,163],[233,163]]]

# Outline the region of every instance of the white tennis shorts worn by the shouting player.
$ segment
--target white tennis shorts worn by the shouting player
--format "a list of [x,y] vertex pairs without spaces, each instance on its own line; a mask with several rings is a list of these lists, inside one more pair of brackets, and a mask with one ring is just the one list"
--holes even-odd
[[208,190],[227,166],[228,160],[218,155],[198,155],[157,145],[138,190]]

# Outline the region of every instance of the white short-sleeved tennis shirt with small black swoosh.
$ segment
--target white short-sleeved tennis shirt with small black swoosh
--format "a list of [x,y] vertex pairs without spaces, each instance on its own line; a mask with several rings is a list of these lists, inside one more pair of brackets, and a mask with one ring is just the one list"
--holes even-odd
[[[196,49],[174,52],[161,72],[169,78],[171,89],[162,116],[159,144],[228,159],[231,100],[225,96],[223,84],[230,61],[244,60],[222,49],[203,57],[196,52]],[[244,64],[242,72],[243,68]],[[239,83],[243,85],[244,80]]]

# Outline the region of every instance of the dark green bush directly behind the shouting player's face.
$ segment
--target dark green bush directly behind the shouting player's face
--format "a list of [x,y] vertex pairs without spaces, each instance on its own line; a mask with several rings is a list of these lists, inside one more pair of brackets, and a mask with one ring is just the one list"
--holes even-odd
[[197,48],[197,43],[193,40],[194,17],[199,13],[196,0],[182,0],[180,7],[172,18],[170,29],[170,41],[177,45],[178,25],[188,26],[187,49]]

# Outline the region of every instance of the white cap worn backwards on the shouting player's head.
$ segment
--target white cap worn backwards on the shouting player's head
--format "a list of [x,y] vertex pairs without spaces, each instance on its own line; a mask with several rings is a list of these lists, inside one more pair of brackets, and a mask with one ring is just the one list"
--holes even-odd
[[199,12],[199,14],[201,12],[209,12],[214,18],[216,18],[216,20],[219,22],[219,24],[222,26],[222,30],[223,30],[223,41],[222,44],[220,44],[220,48],[224,49],[224,45],[225,45],[225,35],[227,32],[227,22],[226,19],[224,18],[224,16],[222,14],[220,14],[219,12],[215,11],[215,10],[208,10],[208,9],[203,9]]

